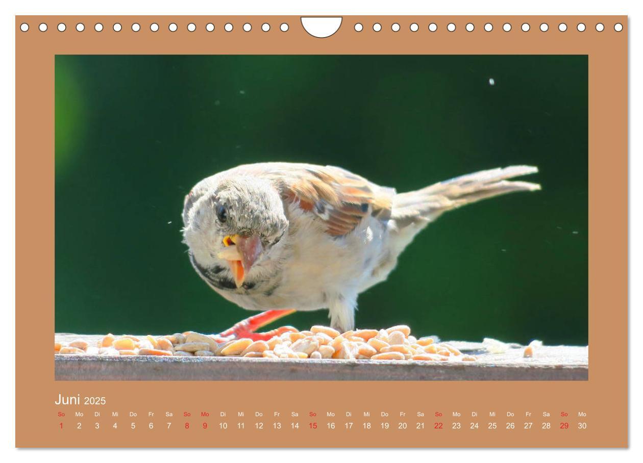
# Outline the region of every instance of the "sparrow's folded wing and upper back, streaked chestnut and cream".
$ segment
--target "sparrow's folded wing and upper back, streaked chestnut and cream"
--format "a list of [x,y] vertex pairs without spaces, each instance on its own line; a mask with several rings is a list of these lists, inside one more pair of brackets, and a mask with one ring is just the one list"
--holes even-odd
[[379,220],[390,218],[395,190],[347,170],[287,162],[250,164],[248,168],[273,179],[285,201],[323,220],[331,236],[350,233],[369,214]]

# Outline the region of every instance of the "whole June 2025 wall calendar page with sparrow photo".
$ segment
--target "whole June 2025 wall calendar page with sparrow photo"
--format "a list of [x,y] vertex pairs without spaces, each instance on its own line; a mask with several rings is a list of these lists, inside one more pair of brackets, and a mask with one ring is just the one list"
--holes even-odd
[[15,42],[17,447],[628,445],[627,17]]

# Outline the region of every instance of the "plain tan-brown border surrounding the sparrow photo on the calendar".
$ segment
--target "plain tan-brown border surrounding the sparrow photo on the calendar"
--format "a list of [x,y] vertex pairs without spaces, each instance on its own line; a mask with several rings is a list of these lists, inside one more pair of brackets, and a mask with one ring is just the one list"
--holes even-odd
[[[20,24],[30,24],[22,32]],[[38,24],[46,22],[48,31],[40,32]],[[65,32],[56,30],[64,22]],[[75,30],[82,22],[83,32]],[[96,22],[104,24],[102,32],[93,30]],[[122,31],[116,33],[111,24],[120,22]],[[134,32],[133,22],[141,24]],[[149,30],[157,22],[159,31]],[[167,24],[175,22],[176,32]],[[186,24],[194,22],[197,30],[188,32]],[[208,32],[207,22],[215,24]],[[223,24],[234,24],[227,33]],[[250,32],[242,24],[250,22]],[[264,33],[262,22],[271,24]],[[278,24],[287,22],[289,31],[282,32]],[[356,22],[364,30],[353,29]],[[382,30],[372,31],[380,22]],[[398,22],[399,32],[390,30]],[[408,25],[419,24],[412,32]],[[435,22],[438,30],[430,32],[428,24]],[[448,32],[446,25],[457,25]],[[465,24],[473,22],[473,32]],[[484,31],[491,22],[494,30]],[[509,22],[512,30],[505,32],[502,24]],[[529,32],[520,25],[528,22]],[[549,25],[547,32],[539,24]],[[568,30],[557,30],[565,22]],[[575,25],[586,24],[579,32]],[[605,30],[598,32],[594,25],[602,22]],[[624,29],[616,32],[617,22]],[[16,349],[16,446],[19,447],[622,447],[628,444],[628,157],[627,157],[627,40],[628,18],[624,16],[344,16],[340,30],[327,39],[316,39],[305,32],[298,16],[20,16],[16,27],[16,332],[32,333],[32,349]],[[54,56],[56,54],[586,54],[589,56],[589,296],[590,346],[595,340],[610,338],[610,349],[590,347],[592,372],[588,381],[455,381],[455,382],[388,382],[365,381],[185,381],[168,386],[163,381],[54,381],[51,362],[51,333],[54,305]],[[38,213],[33,213],[33,204]],[[29,213],[27,211],[30,211]],[[35,246],[34,243],[38,245]],[[37,289],[33,268],[37,263],[41,278]],[[36,354],[34,354],[36,353]],[[42,353],[42,354],[37,354]],[[57,416],[59,407],[53,405],[58,394],[105,396],[107,405],[102,414],[120,411],[118,430],[105,424],[93,430],[96,406],[81,406],[66,410],[68,416]],[[86,426],[75,430],[73,411],[84,410]],[[246,429],[215,429],[221,411],[228,412],[228,422],[237,421],[237,411],[245,410]],[[360,428],[362,412],[369,410],[374,428]],[[496,410],[498,430],[487,430],[488,412]],[[136,419],[127,417],[138,412]],[[166,411],[174,412],[174,428],[147,428],[147,412],[155,412],[154,421]],[[184,411],[192,417],[183,418]],[[210,412],[208,431],[198,429],[204,420],[198,416]],[[300,429],[255,430],[255,411],[264,412],[267,427],[271,426],[273,411],[285,415],[299,412]],[[309,411],[317,412],[320,426],[308,428],[313,419]],[[327,411],[336,417],[327,418]],[[355,427],[341,430],[351,411]],[[400,421],[398,412],[407,413],[408,430],[381,430],[377,426],[380,411],[388,411],[388,419]],[[424,412],[427,428],[412,429],[417,421],[415,412]],[[462,413],[454,418],[452,412]],[[467,429],[470,412],[480,417],[478,430]],[[550,412],[547,420],[552,429],[521,429],[525,412],[531,412],[534,425],[543,421],[542,412]],[[558,428],[560,412],[570,429]],[[71,414],[70,414],[71,412]],[[435,412],[446,429],[433,430]],[[511,418],[519,426],[505,430]],[[582,421],[585,430],[575,425]],[[91,417],[89,415],[92,415]],[[111,417],[101,417],[105,423]],[[333,420],[338,429],[326,428]],[[68,424],[59,429],[59,422]],[[136,420],[138,428],[131,430],[129,422]],[[397,420],[397,421],[396,421]],[[179,423],[180,421],[180,423]],[[180,424],[191,421],[191,431]],[[462,430],[451,430],[452,421],[462,421]],[[286,424],[287,426],[287,424]],[[195,429],[197,427],[197,429]]]

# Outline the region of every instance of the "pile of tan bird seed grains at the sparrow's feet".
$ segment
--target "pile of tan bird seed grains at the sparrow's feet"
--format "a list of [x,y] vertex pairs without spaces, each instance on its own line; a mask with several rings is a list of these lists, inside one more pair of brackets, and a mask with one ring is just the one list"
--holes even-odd
[[[284,331],[285,330],[285,331]],[[55,354],[224,356],[251,358],[334,358],[358,360],[474,361],[446,342],[416,338],[406,325],[388,329],[356,329],[340,333],[327,326],[298,331],[282,327],[281,335],[267,341],[249,338],[217,342],[215,335],[195,331],[168,336],[105,335],[95,345],[86,340],[55,342]],[[221,338],[218,339],[221,341]]]

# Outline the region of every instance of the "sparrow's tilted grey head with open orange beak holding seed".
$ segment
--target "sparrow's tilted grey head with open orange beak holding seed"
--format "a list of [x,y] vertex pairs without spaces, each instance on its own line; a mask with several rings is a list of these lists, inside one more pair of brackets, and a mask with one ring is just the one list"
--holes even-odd
[[288,221],[269,180],[215,176],[185,197],[183,225],[195,270],[212,286],[225,287],[227,278],[240,288],[253,268],[275,258]]

